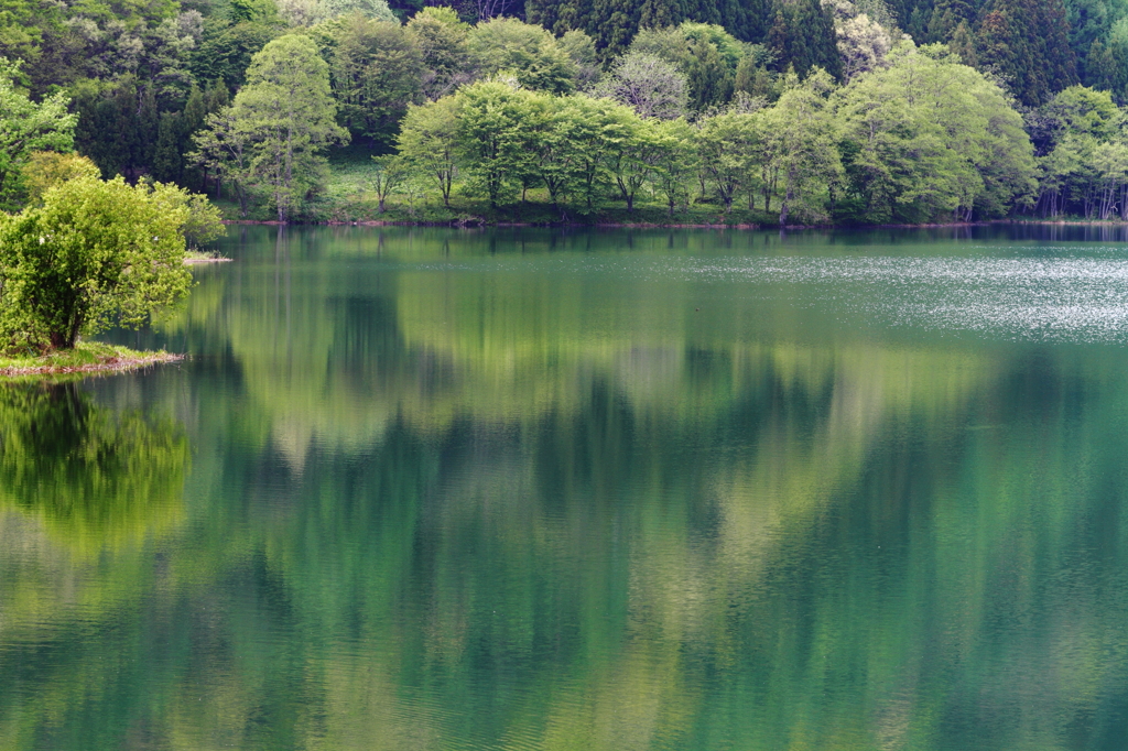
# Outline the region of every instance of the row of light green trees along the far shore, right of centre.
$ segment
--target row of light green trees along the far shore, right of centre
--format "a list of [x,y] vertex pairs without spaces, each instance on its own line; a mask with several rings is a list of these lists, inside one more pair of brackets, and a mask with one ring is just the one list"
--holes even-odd
[[693,123],[478,82],[413,108],[400,159],[444,198],[461,174],[494,205],[544,188],[565,219],[615,194],[671,215],[739,201],[781,224],[950,221],[1003,215],[1033,192],[1022,120],[995,85],[942,46],[906,43],[887,62],[844,88],[821,70],[790,76],[772,105],[744,98]]

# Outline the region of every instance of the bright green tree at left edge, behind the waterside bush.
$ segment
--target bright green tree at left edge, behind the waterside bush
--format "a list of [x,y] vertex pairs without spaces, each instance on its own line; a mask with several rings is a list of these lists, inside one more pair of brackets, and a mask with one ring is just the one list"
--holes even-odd
[[36,104],[16,87],[20,61],[0,58],[0,207],[18,197],[24,165],[35,151],[70,151],[78,115],[62,94]]

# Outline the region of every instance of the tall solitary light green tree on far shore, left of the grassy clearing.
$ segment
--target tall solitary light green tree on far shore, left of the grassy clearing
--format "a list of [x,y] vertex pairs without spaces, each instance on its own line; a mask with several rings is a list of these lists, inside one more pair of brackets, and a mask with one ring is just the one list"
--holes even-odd
[[231,117],[245,136],[249,179],[270,194],[280,222],[321,179],[321,149],[349,141],[335,115],[328,65],[309,37],[281,36],[252,59]]

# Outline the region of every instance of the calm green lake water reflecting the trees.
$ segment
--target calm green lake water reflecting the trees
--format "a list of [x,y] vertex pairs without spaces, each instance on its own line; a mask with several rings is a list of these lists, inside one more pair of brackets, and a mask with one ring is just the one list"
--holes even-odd
[[0,387],[0,748],[1123,749],[1126,239],[232,228]]

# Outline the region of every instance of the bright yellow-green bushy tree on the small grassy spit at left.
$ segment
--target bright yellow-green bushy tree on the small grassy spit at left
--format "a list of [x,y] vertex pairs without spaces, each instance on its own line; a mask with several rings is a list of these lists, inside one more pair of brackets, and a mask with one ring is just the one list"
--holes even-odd
[[81,178],[0,224],[3,347],[71,348],[111,324],[139,326],[184,295],[182,191]]

